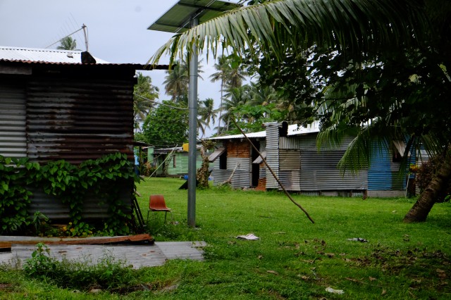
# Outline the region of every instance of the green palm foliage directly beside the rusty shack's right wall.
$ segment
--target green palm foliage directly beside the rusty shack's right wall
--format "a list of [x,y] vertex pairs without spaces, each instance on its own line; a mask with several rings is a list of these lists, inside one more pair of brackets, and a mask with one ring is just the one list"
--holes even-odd
[[154,100],[159,96],[159,88],[152,85],[151,77],[138,72],[133,94],[133,120],[135,130],[139,130],[140,123],[144,122],[154,106]]

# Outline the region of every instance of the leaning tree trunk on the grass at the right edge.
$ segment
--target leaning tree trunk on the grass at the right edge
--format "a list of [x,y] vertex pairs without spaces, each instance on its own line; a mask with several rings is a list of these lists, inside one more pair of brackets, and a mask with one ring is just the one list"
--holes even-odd
[[410,208],[407,215],[404,216],[404,223],[424,222],[428,217],[429,211],[437,200],[438,194],[447,187],[451,179],[451,155],[447,155],[443,165],[433,176],[429,185],[416,200],[414,206]]

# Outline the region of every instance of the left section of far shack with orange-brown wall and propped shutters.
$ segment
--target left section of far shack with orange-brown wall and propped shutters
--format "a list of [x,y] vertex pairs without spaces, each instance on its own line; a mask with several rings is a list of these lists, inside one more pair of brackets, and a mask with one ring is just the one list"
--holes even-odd
[[[265,149],[266,132],[252,132],[247,134],[259,151]],[[228,135],[212,137],[217,149],[209,156],[210,163],[214,163],[211,175],[214,185],[221,185],[232,176],[230,185],[234,188],[257,187],[259,178],[265,177],[260,173],[264,169],[258,163],[252,163],[259,157],[252,145],[243,135]]]

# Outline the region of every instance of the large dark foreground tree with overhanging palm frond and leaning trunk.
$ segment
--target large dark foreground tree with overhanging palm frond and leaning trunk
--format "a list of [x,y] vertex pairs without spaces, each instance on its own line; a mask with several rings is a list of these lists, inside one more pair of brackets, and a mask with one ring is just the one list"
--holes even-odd
[[[174,57],[192,44],[198,51],[205,45],[207,51],[214,51],[221,44],[240,55],[249,53],[256,61],[261,61],[261,55],[266,61],[271,57],[286,63],[289,71],[292,62],[286,59],[287,54],[299,58],[303,51],[314,49],[317,69],[327,75],[323,58],[328,58],[336,64],[329,63],[335,72],[326,77],[310,75],[318,75],[318,82],[336,92],[354,92],[345,99],[326,99],[324,93],[315,91],[314,101],[310,93],[304,94],[304,99],[299,96],[293,102],[296,118],[308,123],[319,116],[322,130],[332,130],[330,137],[347,129],[354,129],[358,137],[377,135],[372,126],[366,127],[371,132],[362,127],[376,120],[381,132],[397,128],[409,134],[409,143],[421,139],[431,155],[445,156],[438,175],[404,218],[406,222],[424,221],[451,177],[450,11],[450,1],[445,0],[267,1],[230,11],[175,35],[150,61],[156,63],[166,51]],[[351,75],[340,77],[342,72]],[[307,74],[309,70],[293,73],[295,79]],[[383,80],[378,80],[381,76]],[[350,88],[352,85],[355,88]],[[302,89],[298,92],[303,93]],[[393,96],[388,99],[378,97],[390,92]],[[321,102],[328,102],[326,110],[319,109]],[[414,113],[409,115],[412,109]],[[348,151],[355,145],[352,143]],[[370,163],[371,147],[359,150]]]

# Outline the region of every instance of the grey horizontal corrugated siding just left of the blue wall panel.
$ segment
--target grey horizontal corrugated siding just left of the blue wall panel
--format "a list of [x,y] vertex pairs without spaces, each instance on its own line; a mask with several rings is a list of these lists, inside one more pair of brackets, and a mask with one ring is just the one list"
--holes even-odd
[[367,172],[342,177],[336,168],[344,151],[302,151],[300,188],[303,191],[366,189]]

